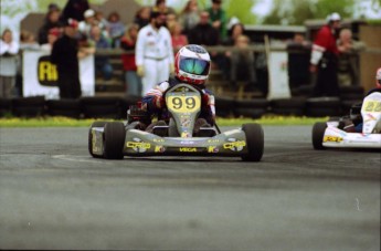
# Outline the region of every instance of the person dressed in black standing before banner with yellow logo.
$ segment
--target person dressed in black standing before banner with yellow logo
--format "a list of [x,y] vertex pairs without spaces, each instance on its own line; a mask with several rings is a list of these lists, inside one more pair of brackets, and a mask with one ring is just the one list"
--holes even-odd
[[67,20],[64,34],[55,41],[51,53],[51,61],[57,66],[61,98],[78,98],[81,96],[76,32],[77,22],[73,19]]

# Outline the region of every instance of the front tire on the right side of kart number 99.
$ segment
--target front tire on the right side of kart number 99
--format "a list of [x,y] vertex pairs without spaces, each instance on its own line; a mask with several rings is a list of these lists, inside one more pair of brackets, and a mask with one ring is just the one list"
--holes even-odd
[[248,153],[242,156],[244,161],[260,161],[264,149],[264,134],[258,124],[244,124],[242,130],[246,136]]

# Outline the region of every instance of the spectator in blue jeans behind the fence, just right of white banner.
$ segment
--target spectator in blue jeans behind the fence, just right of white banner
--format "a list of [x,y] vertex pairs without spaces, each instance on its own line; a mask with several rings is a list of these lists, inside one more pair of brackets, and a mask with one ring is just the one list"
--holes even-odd
[[[91,42],[95,49],[110,49],[112,45],[108,40],[103,35],[102,30],[98,25],[93,25],[89,35]],[[113,76],[113,66],[109,63],[107,55],[95,55],[95,71],[100,72],[105,81],[109,81]]]

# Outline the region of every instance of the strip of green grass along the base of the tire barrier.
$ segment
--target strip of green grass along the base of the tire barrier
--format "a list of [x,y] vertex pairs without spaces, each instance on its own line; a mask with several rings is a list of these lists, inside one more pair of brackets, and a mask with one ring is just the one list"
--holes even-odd
[[[67,117],[39,118],[0,118],[0,127],[88,127],[95,121],[104,119],[73,119]],[[110,119],[106,119],[110,121]],[[218,118],[219,126],[239,126],[246,123],[261,125],[314,125],[316,122],[327,121],[327,117],[294,117],[294,116],[264,116],[260,119],[251,118]]]

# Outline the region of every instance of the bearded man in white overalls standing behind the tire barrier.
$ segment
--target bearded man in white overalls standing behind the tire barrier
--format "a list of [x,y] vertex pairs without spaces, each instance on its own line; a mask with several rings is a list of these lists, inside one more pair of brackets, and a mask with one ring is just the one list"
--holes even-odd
[[165,23],[166,15],[152,11],[149,24],[138,33],[135,56],[137,74],[141,76],[142,96],[157,83],[167,81],[174,71],[171,35]]

